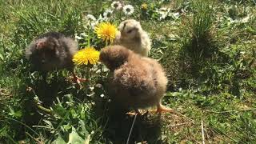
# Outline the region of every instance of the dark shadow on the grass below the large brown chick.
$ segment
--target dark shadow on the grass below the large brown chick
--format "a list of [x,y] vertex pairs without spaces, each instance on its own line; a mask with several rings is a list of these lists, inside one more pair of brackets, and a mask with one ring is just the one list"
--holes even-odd
[[[98,116],[102,116],[103,137],[110,142],[126,143],[135,116],[126,114],[129,110],[122,109],[114,102],[105,101],[102,103],[107,104],[105,107],[99,104],[99,107],[94,107],[94,111]],[[162,143],[161,126],[162,121],[158,114],[145,113],[138,115],[130,134],[129,143]]]

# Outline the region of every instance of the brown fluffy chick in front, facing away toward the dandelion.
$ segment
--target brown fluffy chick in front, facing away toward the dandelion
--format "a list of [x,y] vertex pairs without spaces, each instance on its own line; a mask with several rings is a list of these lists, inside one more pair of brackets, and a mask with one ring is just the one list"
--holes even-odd
[[138,109],[157,106],[158,112],[172,109],[162,106],[167,78],[162,66],[152,58],[143,58],[124,46],[108,46],[102,49],[100,62],[114,73],[111,88],[114,102],[125,108]]

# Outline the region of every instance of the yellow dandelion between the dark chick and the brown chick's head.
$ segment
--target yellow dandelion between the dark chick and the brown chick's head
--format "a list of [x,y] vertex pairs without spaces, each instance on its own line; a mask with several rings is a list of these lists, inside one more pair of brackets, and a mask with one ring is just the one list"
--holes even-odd
[[93,47],[87,47],[74,54],[72,60],[75,65],[88,65],[88,63],[94,65],[98,62],[98,58],[99,51],[95,50]]

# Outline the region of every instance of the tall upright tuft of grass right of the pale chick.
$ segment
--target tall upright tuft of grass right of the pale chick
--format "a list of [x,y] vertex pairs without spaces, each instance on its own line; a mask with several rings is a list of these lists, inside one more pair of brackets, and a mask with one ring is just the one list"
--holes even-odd
[[198,0],[191,2],[192,16],[186,18],[182,33],[183,46],[187,56],[194,62],[201,62],[214,53],[212,36],[214,24],[213,2]]

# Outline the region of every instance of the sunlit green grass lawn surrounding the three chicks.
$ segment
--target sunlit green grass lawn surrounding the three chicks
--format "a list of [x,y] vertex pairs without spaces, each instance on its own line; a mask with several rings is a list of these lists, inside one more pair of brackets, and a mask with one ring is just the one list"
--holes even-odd
[[[144,2],[147,10],[141,9]],[[150,57],[162,63],[169,78],[162,102],[183,115],[137,117],[130,143],[256,142],[255,1],[124,3],[134,6],[134,14],[117,12],[110,22],[136,18],[150,33]],[[67,70],[51,72],[43,82],[24,54],[34,37],[49,30],[78,35],[81,48],[100,50],[105,44],[85,26],[85,16],[98,18],[110,4],[0,1],[0,143],[126,142],[134,117],[110,102],[108,73],[101,65],[77,68],[90,77],[78,90],[67,80]],[[170,8],[165,19],[159,19],[161,7]]]

